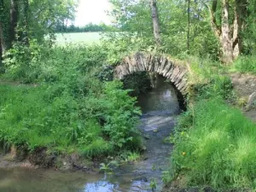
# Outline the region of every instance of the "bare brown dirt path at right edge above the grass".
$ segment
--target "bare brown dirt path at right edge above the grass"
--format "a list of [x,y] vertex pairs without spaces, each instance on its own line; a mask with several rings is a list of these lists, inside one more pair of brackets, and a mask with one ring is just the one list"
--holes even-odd
[[256,91],[256,76],[248,73],[231,73],[232,80],[236,95],[245,101],[242,106],[242,112],[249,118],[256,122],[256,108],[245,108],[248,97]]

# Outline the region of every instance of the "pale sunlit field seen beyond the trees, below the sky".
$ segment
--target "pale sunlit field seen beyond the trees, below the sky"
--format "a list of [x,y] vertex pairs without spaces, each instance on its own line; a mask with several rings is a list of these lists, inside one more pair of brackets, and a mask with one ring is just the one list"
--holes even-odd
[[73,32],[73,33],[57,33],[56,44],[100,44],[100,32]]

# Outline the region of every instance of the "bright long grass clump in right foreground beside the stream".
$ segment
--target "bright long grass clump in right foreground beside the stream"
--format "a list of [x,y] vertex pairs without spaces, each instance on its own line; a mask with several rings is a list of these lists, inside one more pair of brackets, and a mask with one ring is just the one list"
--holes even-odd
[[183,114],[175,144],[172,171],[188,185],[255,189],[256,125],[220,98]]

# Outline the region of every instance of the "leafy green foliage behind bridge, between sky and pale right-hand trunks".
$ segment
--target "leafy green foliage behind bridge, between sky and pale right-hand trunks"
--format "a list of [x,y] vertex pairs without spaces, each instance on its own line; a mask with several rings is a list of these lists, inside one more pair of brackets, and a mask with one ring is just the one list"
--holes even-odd
[[[131,50],[152,49],[154,47],[153,27],[148,1],[110,1],[116,18],[113,25],[119,27],[119,34],[106,33],[108,42],[115,48]],[[158,2],[160,12],[161,50],[183,58],[187,50],[187,9],[185,1],[164,0]],[[218,41],[207,20],[207,9],[193,1],[191,6],[190,54],[218,59]],[[154,48],[153,48],[154,49]],[[119,52],[123,52],[119,49]]]

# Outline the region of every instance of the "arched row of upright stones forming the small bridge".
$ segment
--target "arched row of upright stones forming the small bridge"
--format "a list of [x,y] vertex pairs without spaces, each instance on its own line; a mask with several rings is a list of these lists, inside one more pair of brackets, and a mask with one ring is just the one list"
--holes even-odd
[[123,61],[114,68],[113,77],[124,79],[125,75],[144,71],[159,73],[166,79],[170,79],[183,96],[188,94],[188,64],[166,55],[136,53],[125,56]]

